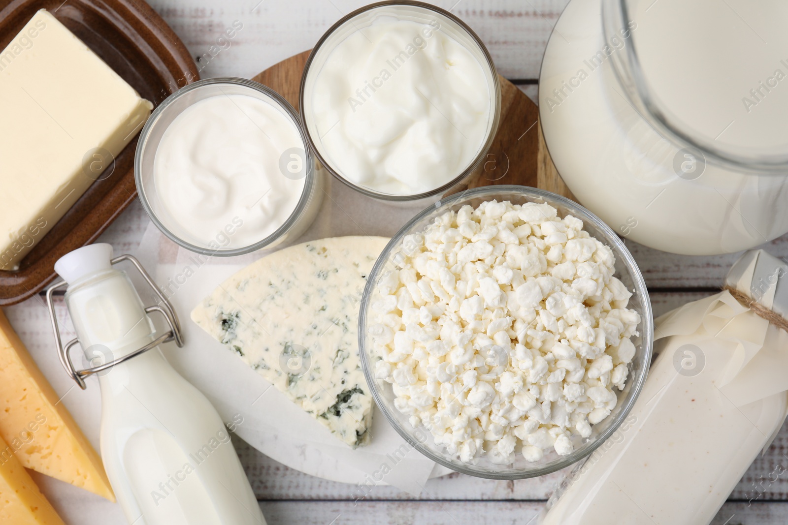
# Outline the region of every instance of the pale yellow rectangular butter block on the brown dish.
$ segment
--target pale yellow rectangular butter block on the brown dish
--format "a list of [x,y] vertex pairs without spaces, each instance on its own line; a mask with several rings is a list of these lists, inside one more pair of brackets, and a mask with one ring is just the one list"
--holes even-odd
[[44,9],[0,53],[0,100],[0,269],[10,270],[153,105]]

